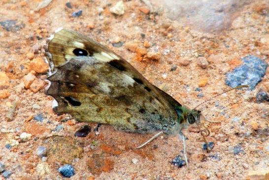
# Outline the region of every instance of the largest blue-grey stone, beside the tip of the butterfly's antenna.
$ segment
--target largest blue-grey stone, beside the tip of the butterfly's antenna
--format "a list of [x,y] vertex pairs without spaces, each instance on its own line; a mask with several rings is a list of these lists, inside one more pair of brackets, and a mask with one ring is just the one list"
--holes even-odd
[[265,75],[268,64],[253,55],[242,58],[242,61],[242,65],[226,74],[225,83],[231,87],[249,85],[253,90]]

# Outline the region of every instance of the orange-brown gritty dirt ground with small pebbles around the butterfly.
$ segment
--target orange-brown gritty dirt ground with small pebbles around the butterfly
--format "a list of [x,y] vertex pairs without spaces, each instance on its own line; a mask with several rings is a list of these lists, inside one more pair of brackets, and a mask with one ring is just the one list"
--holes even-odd
[[[205,117],[221,121],[204,122],[214,147],[207,153],[201,135],[184,130],[189,166],[178,168],[170,163],[182,155],[178,137],[163,135],[139,150],[134,147],[152,135],[105,125],[96,133],[96,124],[90,124],[87,137],[75,137],[86,123],[53,112],[43,62],[44,45],[56,29],[79,31],[121,55],[182,105],[195,108],[229,89],[225,73],[240,65],[241,57],[255,55],[269,63],[266,0],[241,7],[231,27],[218,34],[169,20],[158,1],[151,1],[152,8],[147,0],[123,1],[122,15],[110,12],[116,0],[70,1],[72,8],[66,0],[52,0],[38,9],[40,2],[0,1],[0,162],[5,170],[0,179],[62,180],[58,168],[65,164],[75,170],[70,180],[240,180],[252,171],[269,172],[269,104],[255,99],[259,91],[269,92],[269,68],[255,90],[235,90],[200,107]],[[80,9],[82,15],[73,17]],[[38,146],[46,148],[45,158]]]

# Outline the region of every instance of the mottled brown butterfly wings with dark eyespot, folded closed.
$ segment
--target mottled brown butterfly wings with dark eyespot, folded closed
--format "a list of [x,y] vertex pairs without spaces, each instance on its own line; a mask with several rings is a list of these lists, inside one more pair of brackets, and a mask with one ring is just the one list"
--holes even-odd
[[138,133],[168,130],[177,123],[177,101],[87,36],[61,30],[48,51],[57,68],[48,77],[47,94],[58,102],[58,114]]

